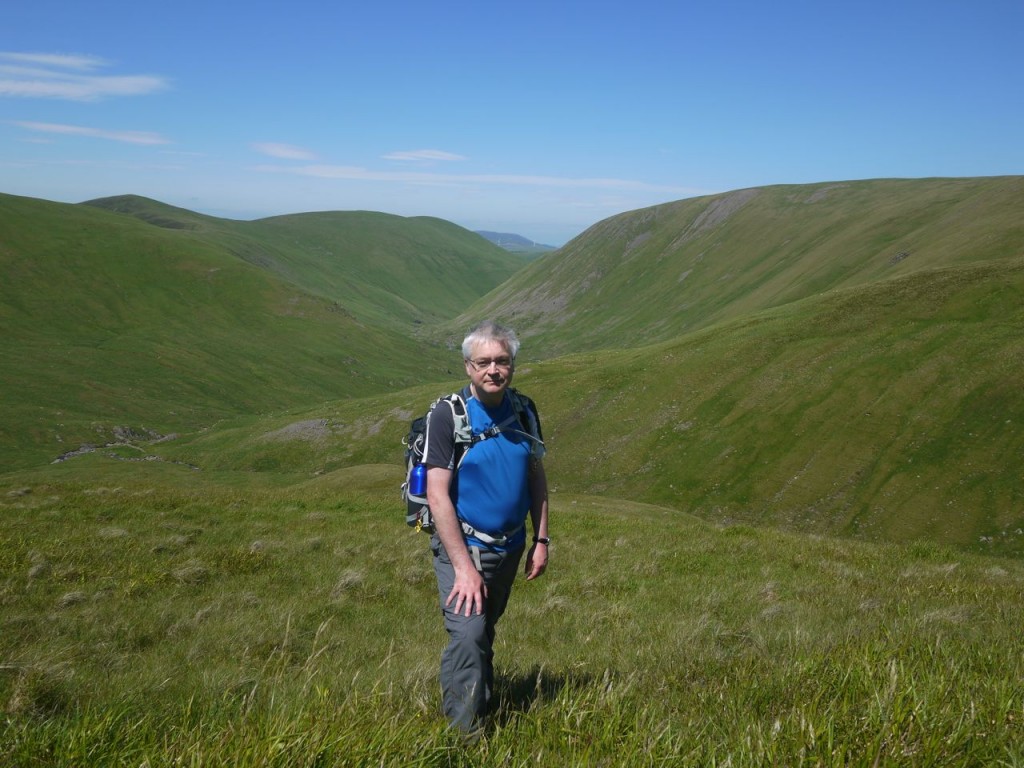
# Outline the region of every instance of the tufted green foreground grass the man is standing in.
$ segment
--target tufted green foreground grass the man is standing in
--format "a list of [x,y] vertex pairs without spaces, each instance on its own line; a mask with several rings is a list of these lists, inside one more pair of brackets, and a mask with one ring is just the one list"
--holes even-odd
[[118,479],[2,488],[5,764],[1024,761],[1016,560],[556,494],[551,570],[516,587],[464,746],[391,474]]

